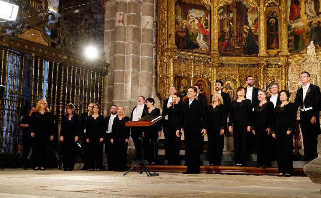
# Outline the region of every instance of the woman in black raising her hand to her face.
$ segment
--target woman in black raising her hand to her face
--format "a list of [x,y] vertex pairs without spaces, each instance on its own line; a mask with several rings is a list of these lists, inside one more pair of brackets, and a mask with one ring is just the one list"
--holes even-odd
[[180,150],[180,140],[181,134],[179,132],[179,137],[176,135],[177,123],[179,121],[179,116],[182,110],[181,100],[177,93],[173,94],[172,101],[169,103],[168,107],[168,123],[170,128],[170,145],[169,145],[169,156],[168,165],[180,165],[179,163],[179,150]]

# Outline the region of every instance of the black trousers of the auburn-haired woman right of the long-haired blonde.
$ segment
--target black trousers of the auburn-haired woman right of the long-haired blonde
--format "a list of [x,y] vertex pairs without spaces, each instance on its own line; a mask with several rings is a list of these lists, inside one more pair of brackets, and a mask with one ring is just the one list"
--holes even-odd
[[245,164],[248,159],[247,126],[233,125],[234,161],[235,164]]

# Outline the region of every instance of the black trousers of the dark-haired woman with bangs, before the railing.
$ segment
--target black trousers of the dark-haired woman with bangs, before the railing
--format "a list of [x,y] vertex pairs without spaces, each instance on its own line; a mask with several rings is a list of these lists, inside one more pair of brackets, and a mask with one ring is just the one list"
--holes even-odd
[[63,167],[74,169],[75,159],[76,159],[76,142],[74,139],[64,139],[62,142],[62,161]]

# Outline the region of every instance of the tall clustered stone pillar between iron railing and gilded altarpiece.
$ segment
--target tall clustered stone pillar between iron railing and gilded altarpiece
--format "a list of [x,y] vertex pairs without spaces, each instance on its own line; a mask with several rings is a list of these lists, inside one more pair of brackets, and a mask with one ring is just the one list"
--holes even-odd
[[139,95],[152,96],[154,14],[153,0],[105,3],[104,50],[110,64],[104,85],[105,115],[114,104],[125,106],[129,116]]

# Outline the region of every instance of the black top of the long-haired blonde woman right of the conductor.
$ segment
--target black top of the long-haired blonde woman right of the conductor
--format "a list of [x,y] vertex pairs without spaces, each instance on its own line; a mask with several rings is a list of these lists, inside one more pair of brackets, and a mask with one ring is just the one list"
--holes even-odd
[[223,104],[213,108],[212,105],[207,106],[207,126],[208,131],[220,131],[226,128],[226,108]]

